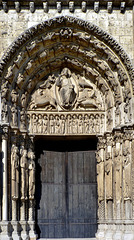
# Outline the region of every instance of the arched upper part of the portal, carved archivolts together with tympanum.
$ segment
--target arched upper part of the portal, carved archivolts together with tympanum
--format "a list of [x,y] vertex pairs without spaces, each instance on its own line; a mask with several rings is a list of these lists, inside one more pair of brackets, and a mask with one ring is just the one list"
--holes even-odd
[[39,131],[39,122],[42,128],[45,119],[67,122],[69,112],[77,122],[84,122],[87,113],[95,125],[104,124],[99,133],[133,121],[130,61],[117,42],[93,24],[73,17],[38,24],[13,43],[0,66],[2,121],[12,128]]

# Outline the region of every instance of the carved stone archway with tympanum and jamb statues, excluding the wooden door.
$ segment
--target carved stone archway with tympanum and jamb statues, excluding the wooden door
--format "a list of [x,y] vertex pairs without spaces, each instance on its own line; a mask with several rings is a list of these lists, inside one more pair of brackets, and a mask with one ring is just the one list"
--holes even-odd
[[[122,231],[124,238],[132,237],[134,84],[123,49],[95,25],[59,17],[24,32],[3,57],[0,71],[3,239],[11,233],[9,221],[13,239],[36,238],[35,135],[98,136],[96,237],[121,239]],[[4,212],[8,203],[9,214]]]

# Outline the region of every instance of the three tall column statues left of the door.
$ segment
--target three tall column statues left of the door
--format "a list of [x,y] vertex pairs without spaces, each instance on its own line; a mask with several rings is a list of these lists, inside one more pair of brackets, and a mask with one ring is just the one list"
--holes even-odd
[[17,200],[19,198],[20,184],[21,184],[21,199],[27,200],[28,192],[29,199],[34,199],[35,155],[32,151],[27,152],[26,149],[21,149],[20,155],[21,156],[19,157],[18,147],[13,145],[11,149],[12,199]]

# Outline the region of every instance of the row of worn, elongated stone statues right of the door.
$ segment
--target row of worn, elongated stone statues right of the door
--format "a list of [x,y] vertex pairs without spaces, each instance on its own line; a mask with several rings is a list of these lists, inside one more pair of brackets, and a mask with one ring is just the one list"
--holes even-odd
[[[117,201],[131,198],[131,155],[130,149],[124,147],[123,153],[120,149],[114,149],[113,157],[110,152],[106,153],[105,161],[97,153],[97,179],[99,200],[104,200],[104,176],[105,176],[105,194],[106,199],[113,199],[114,195]],[[113,186],[113,184],[115,184]],[[123,195],[122,195],[123,191]]]

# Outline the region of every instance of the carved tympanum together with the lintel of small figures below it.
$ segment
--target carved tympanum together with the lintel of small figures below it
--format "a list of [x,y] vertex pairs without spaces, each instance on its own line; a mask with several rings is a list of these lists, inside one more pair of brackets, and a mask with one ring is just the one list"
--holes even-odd
[[37,84],[28,120],[34,134],[100,134],[105,125],[104,97],[89,79],[63,68]]

